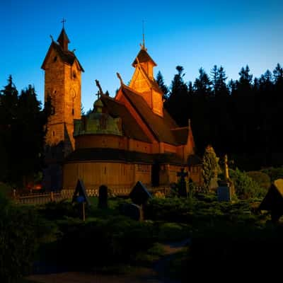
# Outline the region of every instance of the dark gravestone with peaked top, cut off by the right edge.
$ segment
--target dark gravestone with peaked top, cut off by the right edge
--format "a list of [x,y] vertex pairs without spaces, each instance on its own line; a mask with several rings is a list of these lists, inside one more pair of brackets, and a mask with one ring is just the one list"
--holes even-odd
[[279,221],[283,215],[283,179],[277,179],[272,183],[258,209],[269,210],[272,221]]

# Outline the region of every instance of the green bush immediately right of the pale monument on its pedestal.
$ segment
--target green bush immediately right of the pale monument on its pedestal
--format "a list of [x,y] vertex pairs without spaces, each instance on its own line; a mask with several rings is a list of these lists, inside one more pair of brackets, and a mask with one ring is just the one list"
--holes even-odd
[[229,175],[233,180],[235,192],[239,199],[247,200],[249,198],[265,197],[266,190],[262,189],[247,173],[236,168],[236,170],[230,169]]

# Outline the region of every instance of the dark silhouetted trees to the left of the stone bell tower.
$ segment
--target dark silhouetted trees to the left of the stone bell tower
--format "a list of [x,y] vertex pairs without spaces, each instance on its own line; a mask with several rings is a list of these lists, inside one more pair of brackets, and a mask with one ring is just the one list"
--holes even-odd
[[26,187],[42,171],[51,100],[41,106],[33,86],[18,93],[8,77],[0,91],[0,182]]

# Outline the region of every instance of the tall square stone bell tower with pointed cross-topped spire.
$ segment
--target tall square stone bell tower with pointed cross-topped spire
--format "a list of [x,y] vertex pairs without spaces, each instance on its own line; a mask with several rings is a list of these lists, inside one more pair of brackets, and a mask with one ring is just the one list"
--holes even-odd
[[83,67],[68,49],[69,38],[64,29],[51,45],[42,63],[45,71],[45,101],[50,98],[51,115],[47,122],[45,180],[43,185],[59,190],[62,184],[62,162],[74,151],[74,120],[81,119],[81,72]]

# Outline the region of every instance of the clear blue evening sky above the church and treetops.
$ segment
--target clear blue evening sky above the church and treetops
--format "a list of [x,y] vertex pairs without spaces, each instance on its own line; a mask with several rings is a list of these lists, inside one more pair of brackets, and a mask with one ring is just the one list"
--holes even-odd
[[[248,3],[246,3],[248,2]],[[82,75],[82,103],[93,105],[95,79],[110,96],[123,80],[131,79],[131,64],[139,52],[142,21],[148,52],[168,85],[175,67],[185,69],[185,81],[194,81],[198,69],[209,73],[222,65],[229,79],[238,79],[249,65],[254,76],[283,64],[283,1],[7,1],[1,0],[0,87],[8,75],[19,91],[32,84],[44,97],[40,69],[57,39],[62,18]]]

